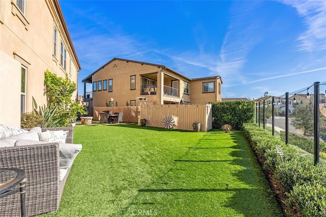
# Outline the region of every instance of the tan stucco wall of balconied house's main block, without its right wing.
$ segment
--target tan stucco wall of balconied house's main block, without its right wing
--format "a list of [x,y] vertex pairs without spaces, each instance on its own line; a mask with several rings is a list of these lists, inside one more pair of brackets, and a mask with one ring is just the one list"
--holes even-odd
[[[135,89],[130,89],[130,76],[135,75]],[[153,80],[156,80],[157,94],[156,95],[141,95],[142,89],[142,76]],[[171,77],[173,76],[173,77]],[[113,91],[108,92],[108,80],[113,79]],[[114,101],[114,106],[118,102],[118,106],[125,106],[126,102],[130,103],[131,100],[135,100],[136,106],[140,105],[140,101],[136,98],[146,97],[147,104],[160,105],[162,101],[161,79],[164,79],[164,85],[171,86],[172,80],[180,80],[181,76],[174,75],[168,70],[162,69],[157,66],[146,65],[141,63],[133,63],[130,61],[124,61],[115,59],[108,65],[104,66],[98,72],[96,72],[92,81],[107,80],[107,89],[100,91],[93,91],[93,106],[100,107],[105,106],[106,101]],[[180,81],[181,82],[181,81]],[[98,85],[98,83],[97,83]],[[183,85],[183,81],[182,81]],[[183,86],[181,86],[183,88]],[[179,84],[180,89],[180,84]],[[180,90],[181,92],[183,89]],[[177,102],[180,102],[178,99]]]

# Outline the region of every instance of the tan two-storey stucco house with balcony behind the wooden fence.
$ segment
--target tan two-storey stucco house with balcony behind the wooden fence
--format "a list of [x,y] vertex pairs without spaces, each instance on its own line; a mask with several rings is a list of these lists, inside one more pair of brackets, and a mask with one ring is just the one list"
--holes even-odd
[[[190,79],[157,64],[113,58],[84,80],[85,100],[93,106],[204,104],[222,100],[220,76]],[[92,92],[86,92],[86,84]]]

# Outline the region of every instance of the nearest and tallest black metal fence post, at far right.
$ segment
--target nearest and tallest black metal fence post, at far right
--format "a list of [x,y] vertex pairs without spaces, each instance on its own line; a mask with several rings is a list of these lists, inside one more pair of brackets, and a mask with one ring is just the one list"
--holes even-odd
[[314,164],[319,163],[319,82],[314,82]]

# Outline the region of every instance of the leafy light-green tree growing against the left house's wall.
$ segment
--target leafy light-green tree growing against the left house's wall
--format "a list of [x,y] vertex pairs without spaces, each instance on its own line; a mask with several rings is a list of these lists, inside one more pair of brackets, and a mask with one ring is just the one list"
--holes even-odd
[[45,71],[44,95],[50,108],[57,108],[55,119],[60,119],[59,126],[68,126],[77,118],[77,113],[86,114],[82,105],[74,102],[71,97],[76,90],[76,84],[68,78],[58,77],[55,73]]

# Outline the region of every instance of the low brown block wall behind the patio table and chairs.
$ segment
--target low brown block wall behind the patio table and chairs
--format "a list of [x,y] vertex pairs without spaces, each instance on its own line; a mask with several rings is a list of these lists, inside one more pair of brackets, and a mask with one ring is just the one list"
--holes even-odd
[[93,120],[99,119],[99,113],[102,111],[123,112],[122,122],[137,123],[138,116],[141,115],[140,106],[122,106],[122,107],[93,107]]

